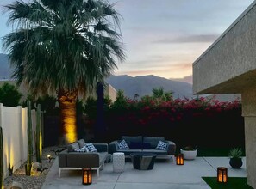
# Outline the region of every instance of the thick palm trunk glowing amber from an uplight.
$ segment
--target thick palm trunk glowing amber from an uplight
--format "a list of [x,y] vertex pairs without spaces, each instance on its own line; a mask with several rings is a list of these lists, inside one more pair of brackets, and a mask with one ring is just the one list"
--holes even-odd
[[78,91],[58,91],[60,124],[65,143],[75,142],[77,138],[76,102]]

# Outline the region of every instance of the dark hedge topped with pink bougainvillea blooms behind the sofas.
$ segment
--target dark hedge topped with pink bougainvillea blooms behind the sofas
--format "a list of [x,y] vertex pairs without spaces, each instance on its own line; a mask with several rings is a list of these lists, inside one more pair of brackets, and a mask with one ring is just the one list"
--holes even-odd
[[239,100],[221,102],[205,98],[171,101],[145,99],[127,99],[122,107],[109,106],[105,110],[108,128],[106,140],[111,141],[122,135],[142,135],[163,136],[180,145],[244,144]]

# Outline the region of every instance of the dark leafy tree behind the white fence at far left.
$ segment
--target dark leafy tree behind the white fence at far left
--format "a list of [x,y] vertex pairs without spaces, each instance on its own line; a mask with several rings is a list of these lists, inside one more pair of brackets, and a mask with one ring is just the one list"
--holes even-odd
[[21,98],[22,94],[14,85],[4,82],[3,86],[0,87],[0,102],[2,102],[4,106],[16,107],[19,105]]

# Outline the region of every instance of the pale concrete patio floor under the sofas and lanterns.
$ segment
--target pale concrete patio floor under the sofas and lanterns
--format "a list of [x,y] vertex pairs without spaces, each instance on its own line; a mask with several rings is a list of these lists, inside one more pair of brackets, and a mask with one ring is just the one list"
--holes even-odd
[[228,157],[197,157],[193,161],[184,161],[183,166],[172,160],[157,161],[153,170],[136,170],[131,162],[126,162],[125,171],[114,173],[112,163],[105,163],[104,170],[97,177],[93,171],[92,184],[82,185],[81,171],[61,172],[58,177],[58,158],[47,174],[42,189],[88,188],[88,189],[207,189],[210,188],[202,176],[216,176],[217,167],[227,167],[228,176],[246,177],[246,158],[240,169],[230,168]]

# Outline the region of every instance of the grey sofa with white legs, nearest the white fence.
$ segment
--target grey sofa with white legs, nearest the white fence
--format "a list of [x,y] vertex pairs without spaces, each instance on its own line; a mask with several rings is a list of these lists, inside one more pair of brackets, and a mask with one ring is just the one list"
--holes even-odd
[[76,152],[75,149],[84,147],[84,139],[67,146],[67,149],[59,153],[59,177],[61,170],[91,168],[97,170],[104,168],[104,162],[108,157],[108,143],[93,143],[97,152]]

